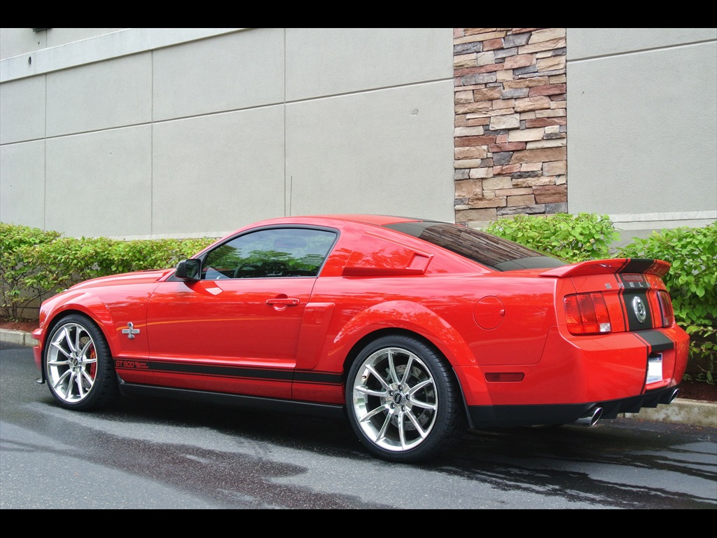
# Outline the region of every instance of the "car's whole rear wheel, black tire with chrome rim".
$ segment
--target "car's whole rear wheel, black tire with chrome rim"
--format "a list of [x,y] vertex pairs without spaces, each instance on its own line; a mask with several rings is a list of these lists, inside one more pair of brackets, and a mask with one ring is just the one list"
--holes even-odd
[[447,450],[467,428],[450,365],[410,336],[384,336],[359,353],[346,380],[346,410],[372,454],[400,463]]

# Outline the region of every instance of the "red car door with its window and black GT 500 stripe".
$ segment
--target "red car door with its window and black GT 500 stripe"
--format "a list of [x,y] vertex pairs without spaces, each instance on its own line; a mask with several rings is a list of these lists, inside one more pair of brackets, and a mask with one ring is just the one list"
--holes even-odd
[[305,307],[336,233],[269,227],[202,256],[201,278],[171,278],[148,302],[158,383],[290,397]]

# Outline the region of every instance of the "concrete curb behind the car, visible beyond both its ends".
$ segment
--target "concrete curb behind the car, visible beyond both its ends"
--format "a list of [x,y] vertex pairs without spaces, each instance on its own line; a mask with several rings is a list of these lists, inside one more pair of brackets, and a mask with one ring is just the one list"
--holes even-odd
[[[0,329],[0,341],[19,346],[34,346],[37,344],[37,340],[32,338],[32,334],[9,329]],[[703,428],[717,428],[717,403],[680,400],[678,396],[670,405],[658,405],[654,408],[645,407],[639,413],[621,413],[619,416],[656,422],[690,424]]]

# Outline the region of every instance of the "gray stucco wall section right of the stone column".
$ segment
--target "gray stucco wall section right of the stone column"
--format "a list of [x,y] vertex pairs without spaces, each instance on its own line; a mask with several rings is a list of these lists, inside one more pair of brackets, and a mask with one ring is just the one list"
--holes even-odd
[[623,237],[717,218],[717,29],[569,28],[568,207]]

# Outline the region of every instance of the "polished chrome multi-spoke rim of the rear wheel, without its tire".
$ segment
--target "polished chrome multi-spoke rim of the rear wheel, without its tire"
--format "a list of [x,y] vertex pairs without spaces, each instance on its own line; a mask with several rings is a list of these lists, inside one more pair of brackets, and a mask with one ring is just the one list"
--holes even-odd
[[433,429],[439,405],[435,380],[416,354],[379,349],[353,378],[353,414],[372,443],[400,452],[420,445]]

